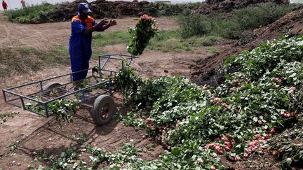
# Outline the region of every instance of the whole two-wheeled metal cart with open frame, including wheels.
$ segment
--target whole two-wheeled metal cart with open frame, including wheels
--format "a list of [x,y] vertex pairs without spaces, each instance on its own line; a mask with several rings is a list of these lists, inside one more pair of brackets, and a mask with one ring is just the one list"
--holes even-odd
[[[116,113],[112,94],[112,78],[123,66],[129,66],[137,56],[101,55],[97,67],[88,71],[83,80],[72,81],[72,74],[67,73],[53,78],[37,80],[2,90],[7,104],[23,108],[38,115],[50,117],[49,104],[60,99],[79,99],[82,106],[89,108],[90,116],[96,125],[105,125]],[[106,67],[109,64],[110,69]],[[117,64],[118,63],[118,64]],[[74,73],[80,73],[76,71]],[[27,107],[27,106],[37,107]]]

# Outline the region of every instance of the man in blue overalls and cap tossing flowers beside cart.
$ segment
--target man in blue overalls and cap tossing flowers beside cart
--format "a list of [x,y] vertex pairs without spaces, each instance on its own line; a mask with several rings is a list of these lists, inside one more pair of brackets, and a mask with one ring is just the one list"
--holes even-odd
[[[87,3],[79,3],[79,13],[72,18],[72,34],[69,38],[69,55],[72,72],[88,69],[92,55],[91,43],[93,31],[105,31],[116,25],[115,20],[101,20],[97,23],[88,14],[91,13]],[[72,80],[86,78],[88,71],[72,74]]]

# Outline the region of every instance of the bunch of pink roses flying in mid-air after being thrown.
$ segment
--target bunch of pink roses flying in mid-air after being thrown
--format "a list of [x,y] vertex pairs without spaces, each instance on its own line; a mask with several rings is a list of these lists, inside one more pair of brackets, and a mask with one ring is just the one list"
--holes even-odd
[[156,20],[149,15],[142,15],[135,28],[128,29],[131,40],[127,49],[130,55],[141,55],[149,40],[158,33]]

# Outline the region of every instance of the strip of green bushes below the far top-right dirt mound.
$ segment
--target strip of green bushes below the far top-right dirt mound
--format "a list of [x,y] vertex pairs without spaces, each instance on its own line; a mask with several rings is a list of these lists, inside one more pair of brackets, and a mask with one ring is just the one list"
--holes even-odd
[[[234,10],[230,17],[219,14],[212,17],[204,15],[180,16],[181,35],[191,36],[217,35],[223,38],[238,39],[245,30],[266,26],[289,13],[295,4],[276,5],[275,3],[260,3]],[[222,19],[224,18],[224,19]]]

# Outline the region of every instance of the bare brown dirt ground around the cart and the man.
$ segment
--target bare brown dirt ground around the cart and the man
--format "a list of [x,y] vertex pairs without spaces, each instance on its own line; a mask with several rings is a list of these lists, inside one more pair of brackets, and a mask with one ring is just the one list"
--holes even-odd
[[[159,29],[173,29],[178,25],[170,18],[157,18]],[[135,25],[136,19],[132,17],[117,19],[118,25],[108,31],[126,30]],[[17,24],[7,22],[0,13],[0,48],[6,47],[33,47],[40,49],[51,48],[55,45],[68,45],[70,34],[69,22],[46,24]],[[126,45],[109,45],[102,48],[110,53],[126,53]],[[184,75],[190,78],[189,67],[194,60],[210,57],[208,48],[196,48],[187,52],[158,52],[147,50],[139,59],[135,59],[133,66],[137,73],[145,78],[156,78],[164,75]],[[91,65],[95,64],[91,60]],[[14,75],[0,80],[0,89],[20,85],[33,80],[40,80],[58,76],[69,72],[69,66],[56,66],[38,72]],[[43,150],[44,155],[58,156],[70,146],[75,146],[79,134],[86,134],[88,141],[95,142],[97,147],[106,150],[116,150],[121,142],[134,143],[137,147],[152,145],[152,139],[142,139],[143,129],[124,127],[120,122],[112,120],[108,125],[97,127],[89,117],[86,110],[80,110],[74,123],[64,125],[63,128],[55,124],[53,118],[43,118],[20,108],[4,103],[3,94],[0,94],[0,113],[20,112],[4,125],[0,125],[0,168],[26,169],[30,164],[46,164],[34,160],[34,153]],[[121,97],[114,97],[119,113],[123,113]],[[18,147],[14,152],[8,147],[13,144]],[[142,157],[144,160],[154,160],[163,152],[161,146],[147,151]],[[47,165],[47,164],[46,164]]]

